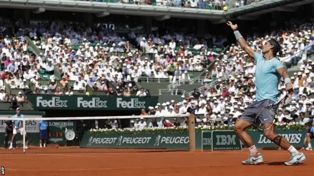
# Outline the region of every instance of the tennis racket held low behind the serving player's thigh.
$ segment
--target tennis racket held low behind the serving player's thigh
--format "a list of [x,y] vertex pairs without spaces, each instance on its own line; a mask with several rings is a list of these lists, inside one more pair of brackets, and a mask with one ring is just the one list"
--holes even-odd
[[[278,106],[279,104],[285,99],[285,97],[287,96],[287,93],[285,92],[277,102],[273,103],[273,104],[270,104],[270,105],[267,105],[265,107],[263,107],[256,115],[255,117],[255,127],[257,129],[259,129],[260,131],[266,131],[268,129],[270,129],[273,124],[277,121],[277,109],[278,109]],[[263,126],[262,126],[262,122],[261,120],[259,119],[259,116],[262,115],[262,117],[274,117],[274,120],[272,121],[271,125],[264,129]]]

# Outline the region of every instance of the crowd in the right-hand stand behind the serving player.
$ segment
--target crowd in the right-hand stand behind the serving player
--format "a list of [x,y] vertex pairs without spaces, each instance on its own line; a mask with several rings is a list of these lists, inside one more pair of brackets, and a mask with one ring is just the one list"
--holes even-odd
[[[307,54],[314,52],[314,24],[304,23],[294,26],[286,31],[274,31],[263,37],[253,36],[247,39],[248,44],[256,51],[261,52],[261,44],[276,38],[282,44],[282,50],[278,59],[296,66],[299,60],[302,65],[299,70],[291,76],[293,93],[289,94],[282,102],[278,110],[278,123],[298,122],[305,124],[312,122],[314,118],[314,99],[308,96],[314,93],[314,61],[307,59]],[[305,52],[300,52],[305,51]],[[165,102],[149,107],[149,111],[142,110],[146,115],[179,115],[186,112],[196,115],[199,125],[233,125],[237,118],[252,104],[255,99],[255,64],[238,44],[232,44],[230,50],[221,53],[222,59],[217,59],[211,73],[215,75],[217,84],[212,87],[204,87],[202,90],[195,88],[190,96],[182,96],[182,101]],[[293,56],[292,59],[290,56]],[[286,64],[287,66],[287,64]],[[279,96],[285,92],[284,80],[278,86]],[[147,124],[137,119],[135,128],[146,128]],[[162,120],[162,122],[164,122]],[[187,119],[183,117],[180,123],[177,119],[168,118],[166,125],[161,126],[184,126]],[[160,124],[160,123],[159,123]],[[172,125],[171,125],[172,124]],[[157,127],[158,124],[155,125]],[[160,127],[160,125],[159,125]]]

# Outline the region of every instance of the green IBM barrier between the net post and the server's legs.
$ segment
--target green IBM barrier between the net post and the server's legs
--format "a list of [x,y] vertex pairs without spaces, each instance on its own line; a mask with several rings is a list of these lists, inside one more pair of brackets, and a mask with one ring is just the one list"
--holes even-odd
[[234,131],[202,131],[203,150],[242,150],[242,145]]

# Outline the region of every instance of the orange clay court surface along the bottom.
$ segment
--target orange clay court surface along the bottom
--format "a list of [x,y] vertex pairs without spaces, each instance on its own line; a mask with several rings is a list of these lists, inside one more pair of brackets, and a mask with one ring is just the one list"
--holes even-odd
[[[3,150],[1,153],[4,153]],[[81,149],[75,150],[79,152]],[[5,167],[6,176],[310,176],[314,173],[313,151],[306,151],[307,161],[298,166],[285,166],[284,162],[289,160],[289,154],[275,150],[260,151],[265,160],[265,164],[260,166],[241,165],[241,161],[248,157],[247,150],[58,154],[47,152],[0,154],[0,165]]]

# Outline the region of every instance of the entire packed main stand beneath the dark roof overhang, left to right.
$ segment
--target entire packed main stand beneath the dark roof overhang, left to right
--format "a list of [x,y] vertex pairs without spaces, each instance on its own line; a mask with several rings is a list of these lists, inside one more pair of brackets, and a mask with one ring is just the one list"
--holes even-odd
[[[47,30],[54,28],[63,32]],[[224,49],[209,48],[206,40],[187,40],[192,35],[181,33],[159,37],[130,32],[126,39],[100,26],[94,26],[94,31],[104,33],[61,22],[32,24],[29,29],[27,36],[22,32],[25,29],[20,28],[15,34],[19,38],[1,39],[1,95],[3,102],[11,102],[11,108],[15,99],[26,103],[28,93],[159,95],[160,103],[149,107],[149,114],[183,114],[190,107],[198,115],[198,122],[230,125],[231,117],[239,116],[255,99],[255,65],[237,44]],[[297,110],[294,114],[304,111],[307,116],[314,115],[311,110],[294,107],[306,107],[314,100],[313,22],[297,27],[291,24],[288,30],[249,36],[247,40],[259,52],[260,44],[270,38],[282,43],[279,59],[297,70],[291,75],[295,95],[284,102],[283,109],[287,114]],[[282,84],[279,88],[283,89]],[[305,99],[299,101],[301,97]],[[286,119],[291,120],[291,116]]]

